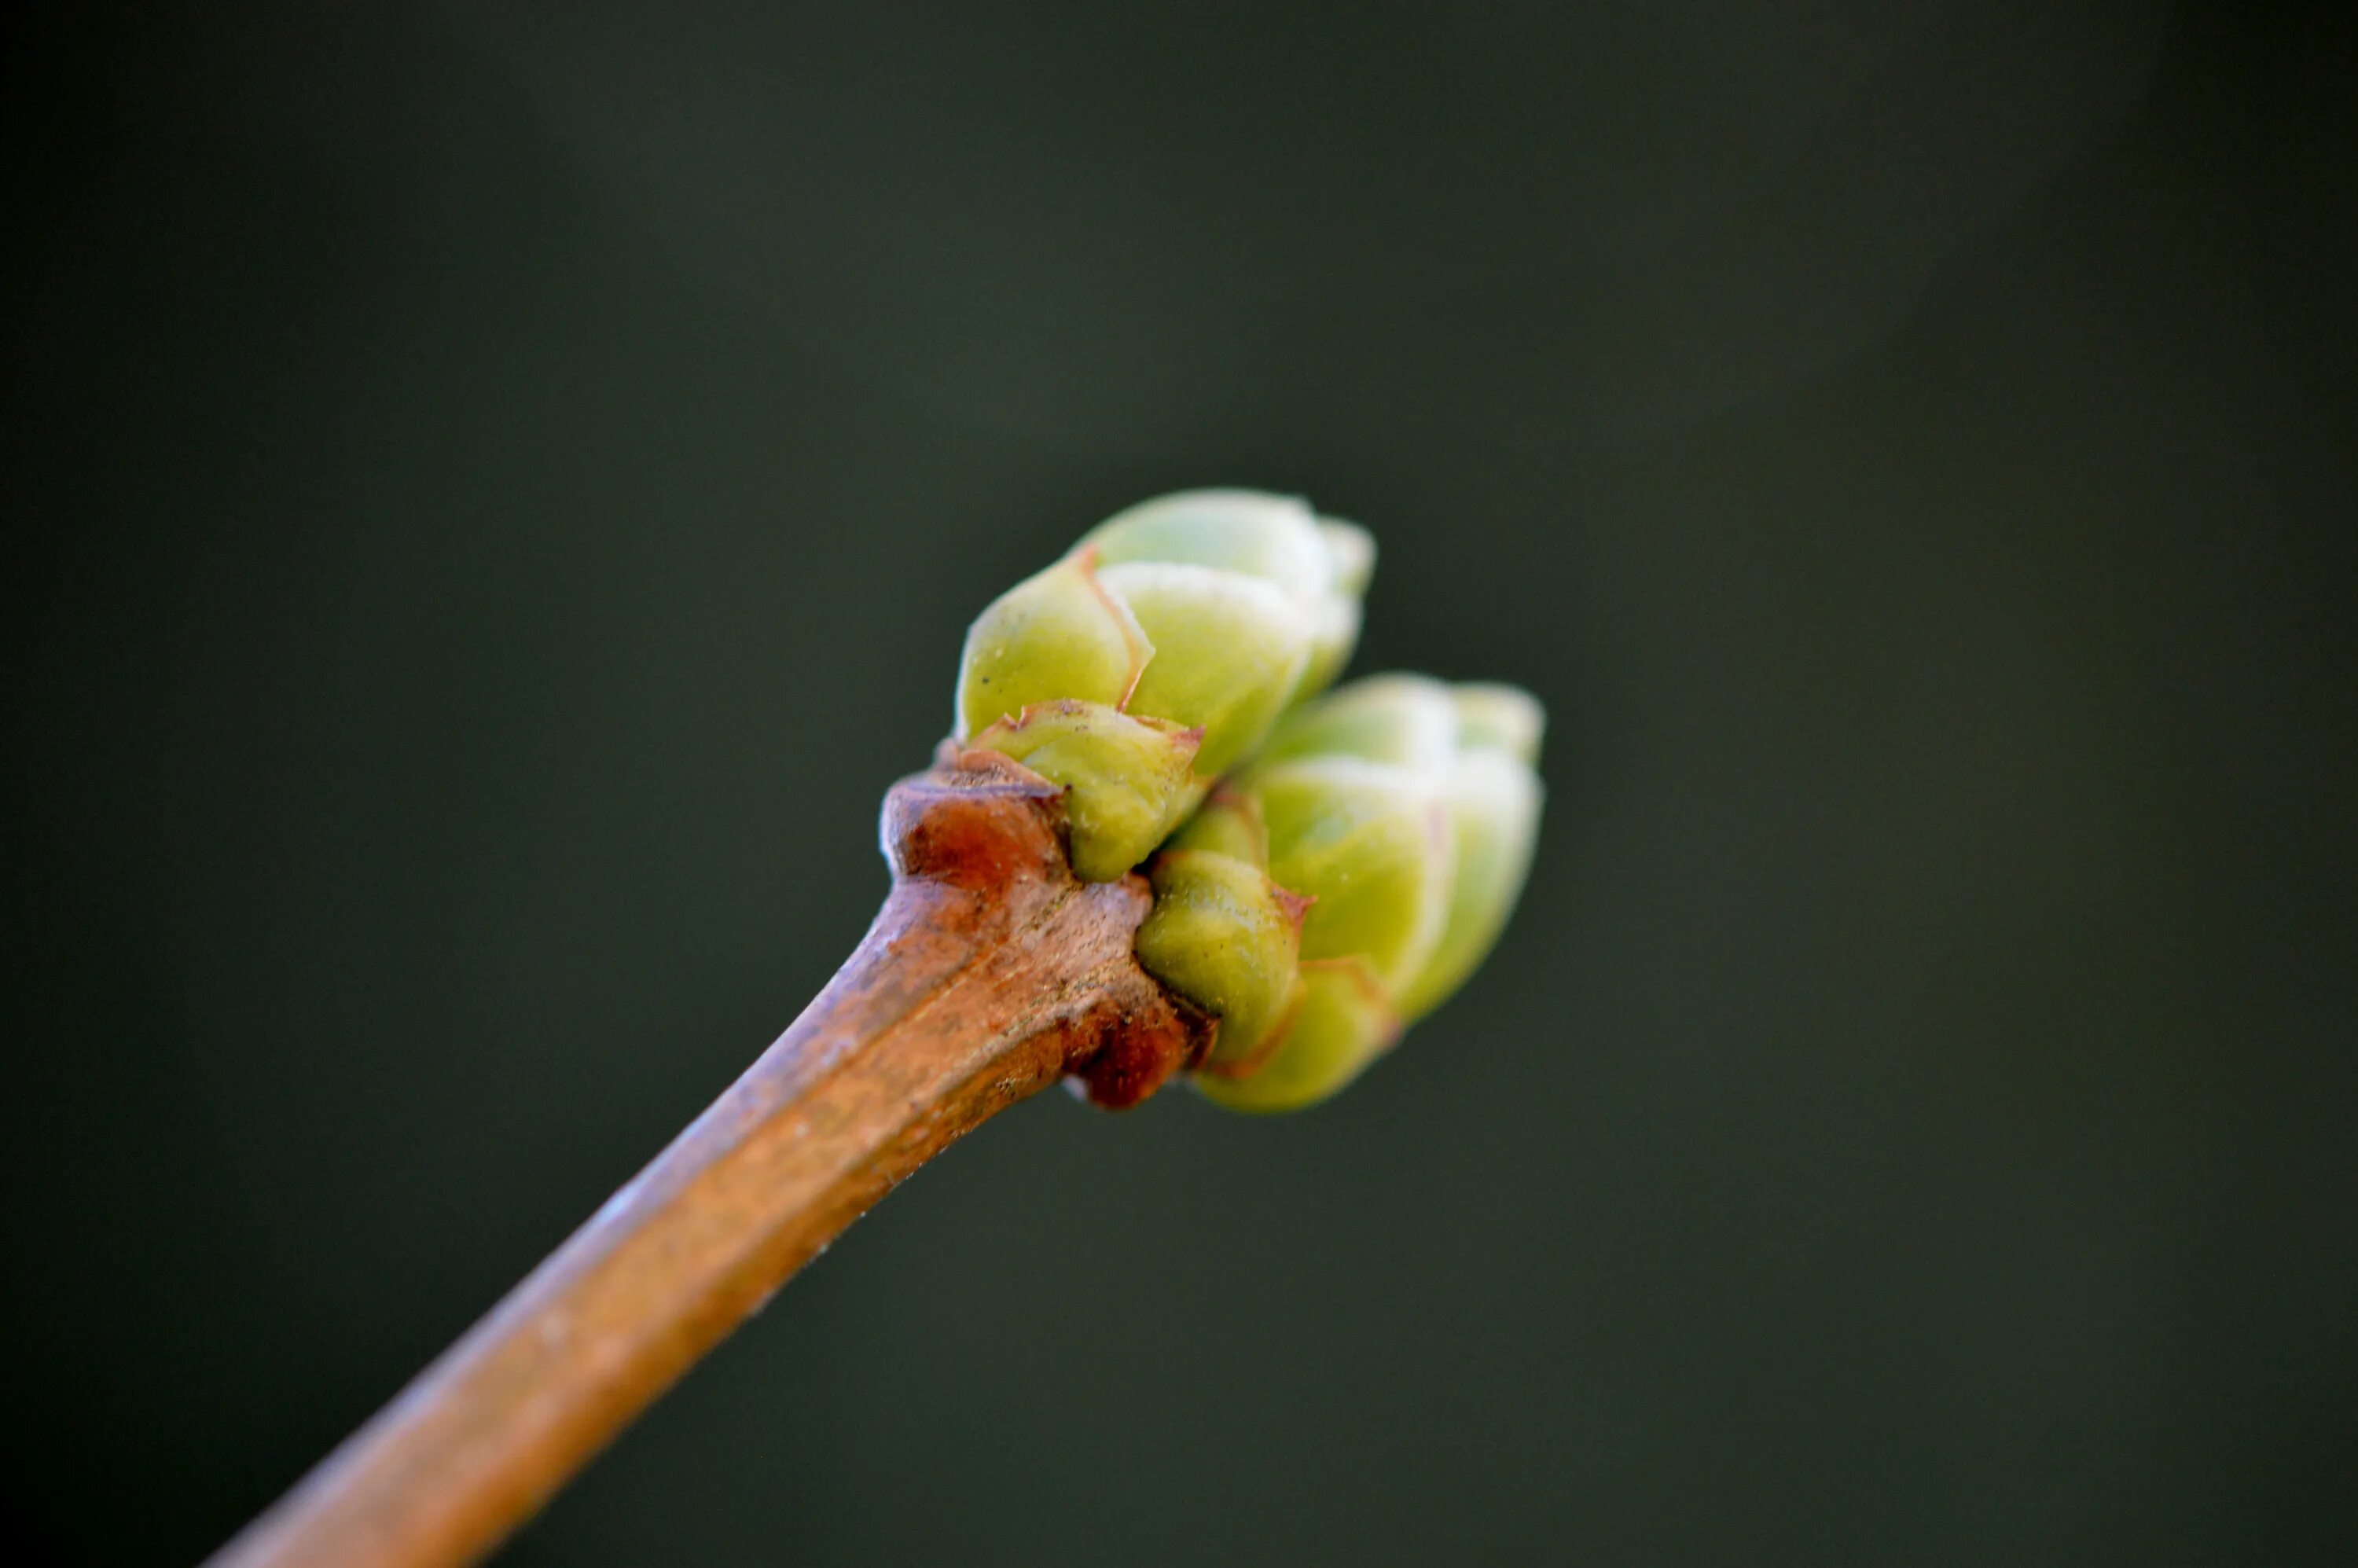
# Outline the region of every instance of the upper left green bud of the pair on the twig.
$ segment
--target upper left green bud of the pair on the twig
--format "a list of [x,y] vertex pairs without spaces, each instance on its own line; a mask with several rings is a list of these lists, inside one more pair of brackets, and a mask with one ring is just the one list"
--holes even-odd
[[1066,785],[1073,868],[1118,877],[1349,658],[1372,561],[1363,531],[1292,498],[1132,507],[974,622],[957,738]]

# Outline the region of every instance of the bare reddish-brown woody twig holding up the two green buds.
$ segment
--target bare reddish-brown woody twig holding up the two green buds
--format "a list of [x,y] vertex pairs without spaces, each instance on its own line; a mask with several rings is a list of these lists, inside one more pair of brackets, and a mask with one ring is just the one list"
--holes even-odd
[[1198,1054],[1129,955],[1146,884],[1073,879],[1059,825],[988,752],[896,785],[894,891],[818,1000],[215,1568],[474,1561],[964,1132],[1066,1073],[1134,1103]]

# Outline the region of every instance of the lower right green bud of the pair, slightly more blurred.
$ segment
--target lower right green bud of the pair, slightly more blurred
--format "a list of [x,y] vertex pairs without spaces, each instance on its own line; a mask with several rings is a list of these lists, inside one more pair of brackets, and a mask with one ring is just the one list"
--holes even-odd
[[[1262,757],[1179,830],[1174,846],[1266,865],[1273,887],[1309,901],[1299,1000],[1283,1021],[1257,1023],[1250,1047],[1214,1042],[1198,1073],[1210,1099],[1238,1111],[1316,1103],[1474,971],[1530,868],[1540,726],[1540,705],[1507,686],[1356,681],[1287,714]],[[1238,983],[1221,964],[1250,943],[1243,924],[1193,908],[1184,943],[1177,922],[1153,946],[1141,929],[1139,960],[1221,1012],[1210,995]]]

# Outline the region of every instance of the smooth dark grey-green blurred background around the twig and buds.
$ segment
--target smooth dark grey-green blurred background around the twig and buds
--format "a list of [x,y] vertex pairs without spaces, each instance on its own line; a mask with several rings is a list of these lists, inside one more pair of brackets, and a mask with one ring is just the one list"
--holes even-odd
[[5,1467],[193,1561],[783,1028],[964,620],[1370,523],[1540,868],[1047,1096],[509,1563],[2358,1561],[2330,5],[21,9]]

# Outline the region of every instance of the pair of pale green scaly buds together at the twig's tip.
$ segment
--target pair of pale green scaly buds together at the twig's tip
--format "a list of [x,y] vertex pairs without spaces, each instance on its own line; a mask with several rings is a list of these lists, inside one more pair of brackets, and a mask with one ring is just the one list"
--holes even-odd
[[1146,863],[1139,962],[1219,1019],[1196,1082],[1226,1106],[1356,1078],[1471,974],[1530,865],[1535,700],[1405,674],[1316,696],[1372,564],[1299,500],[1191,490],[967,634],[960,743],[1063,785],[1078,875]]

